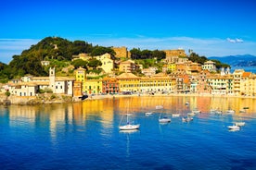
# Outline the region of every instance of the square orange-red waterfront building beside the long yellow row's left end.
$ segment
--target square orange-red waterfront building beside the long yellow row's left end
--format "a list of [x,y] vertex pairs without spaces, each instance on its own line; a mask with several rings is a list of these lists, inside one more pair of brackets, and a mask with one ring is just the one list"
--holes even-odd
[[102,79],[102,92],[107,94],[119,93],[119,81],[115,78]]

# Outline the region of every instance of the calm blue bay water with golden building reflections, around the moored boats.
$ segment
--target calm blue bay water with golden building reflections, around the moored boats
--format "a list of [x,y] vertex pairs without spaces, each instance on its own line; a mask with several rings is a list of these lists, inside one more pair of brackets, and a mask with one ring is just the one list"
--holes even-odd
[[[202,113],[189,123],[172,117],[160,124],[159,104],[167,116]],[[244,106],[250,109],[239,113]],[[118,129],[127,112],[139,130]],[[229,131],[234,121],[246,125]],[[256,169],[255,139],[255,99],[154,96],[0,107],[0,169]]]

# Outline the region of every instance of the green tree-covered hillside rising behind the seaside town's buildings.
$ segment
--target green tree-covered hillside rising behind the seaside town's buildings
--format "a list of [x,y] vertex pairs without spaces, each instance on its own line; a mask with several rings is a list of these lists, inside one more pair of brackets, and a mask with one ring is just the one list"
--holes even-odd
[[[92,58],[88,61],[72,60],[72,55],[88,54],[91,56],[104,55],[108,53],[111,59],[116,60],[115,52],[111,47],[93,46],[92,43],[84,41],[71,42],[60,37],[46,37],[37,44],[33,44],[29,49],[24,50],[20,55],[13,55],[11,62],[6,65],[0,63],[0,82],[7,82],[9,79],[19,79],[24,75],[32,76],[47,76],[49,67],[56,67],[58,76],[72,76],[73,69],[83,67],[87,71],[92,71],[102,63]],[[158,72],[163,66],[162,59],[166,58],[166,54],[160,50],[140,50],[134,48],[130,50],[131,59],[135,60],[136,64],[142,64],[143,67],[158,67]],[[203,64],[207,61],[205,56],[199,56],[195,53],[190,53],[189,60]],[[49,61],[48,66],[42,66],[42,61]],[[227,67],[218,60],[216,67]],[[70,67],[72,66],[72,67]],[[70,67],[68,71],[63,69]],[[92,69],[89,70],[89,67]],[[97,72],[100,70],[96,70]],[[63,73],[63,74],[62,74]]]

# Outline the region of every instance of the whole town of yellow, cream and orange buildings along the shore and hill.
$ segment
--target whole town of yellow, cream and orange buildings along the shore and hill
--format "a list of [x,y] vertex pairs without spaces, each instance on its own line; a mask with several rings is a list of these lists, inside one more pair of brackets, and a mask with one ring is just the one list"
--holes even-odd
[[[126,58],[115,63],[109,54],[95,56],[102,62],[101,68],[106,77],[102,79],[88,79],[86,70],[79,67],[73,77],[56,77],[55,68],[50,68],[48,77],[25,76],[21,79],[10,80],[1,91],[9,91],[11,96],[32,97],[39,91],[51,91],[53,94],[69,95],[79,98],[87,95],[101,94],[224,94],[232,96],[255,96],[256,76],[243,69],[230,73],[229,68],[216,71],[215,63],[207,61],[203,65],[188,60],[185,50],[164,50],[166,58],[160,73],[156,67],[143,68],[135,64],[126,47],[112,47],[116,58]],[[86,54],[74,55],[73,60],[88,60]],[[43,64],[43,63],[42,63]],[[47,65],[47,62],[44,63]],[[118,65],[120,75],[113,70]],[[132,72],[140,69],[144,76],[135,76]]]

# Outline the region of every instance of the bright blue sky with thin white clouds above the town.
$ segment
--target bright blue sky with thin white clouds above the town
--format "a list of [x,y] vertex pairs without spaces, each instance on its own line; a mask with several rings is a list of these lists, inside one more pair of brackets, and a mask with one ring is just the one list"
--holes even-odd
[[256,55],[254,0],[2,0],[0,61],[48,36],[198,55]]

